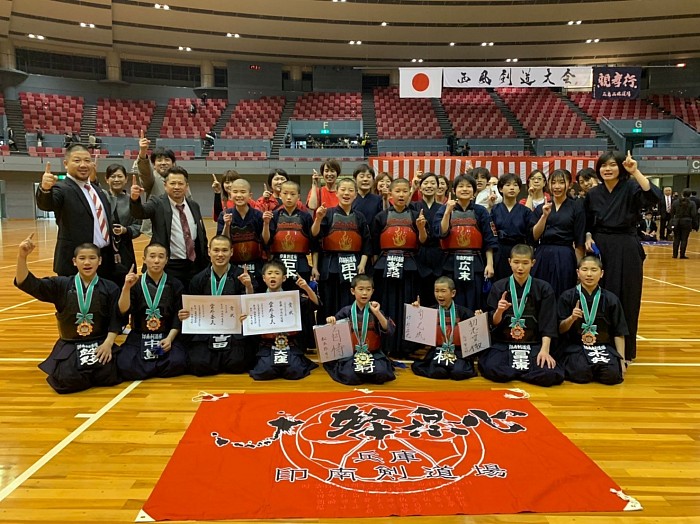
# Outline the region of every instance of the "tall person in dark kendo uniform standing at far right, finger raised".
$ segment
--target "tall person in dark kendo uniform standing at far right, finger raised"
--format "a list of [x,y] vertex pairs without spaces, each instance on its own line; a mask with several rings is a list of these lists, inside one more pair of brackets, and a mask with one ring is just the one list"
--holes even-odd
[[642,302],[644,248],[637,237],[642,209],[657,205],[663,198],[637,167],[627,152],[603,153],[596,161],[596,173],[603,182],[584,199],[586,211],[586,250],[593,245],[605,266],[603,287],[620,299],[629,335],[625,337],[625,358],[637,357],[637,327]]

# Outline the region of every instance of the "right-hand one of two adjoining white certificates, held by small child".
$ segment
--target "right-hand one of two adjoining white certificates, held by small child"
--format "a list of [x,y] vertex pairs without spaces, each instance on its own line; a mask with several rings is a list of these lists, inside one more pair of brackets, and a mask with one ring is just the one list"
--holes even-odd
[[301,331],[299,291],[241,295],[244,335]]

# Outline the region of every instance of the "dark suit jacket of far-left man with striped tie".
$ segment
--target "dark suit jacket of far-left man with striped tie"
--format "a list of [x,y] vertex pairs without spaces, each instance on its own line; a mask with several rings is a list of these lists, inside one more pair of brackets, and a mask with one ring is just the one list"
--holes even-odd
[[[112,209],[109,201],[97,184],[93,184],[92,187],[102,201],[111,235]],[[75,182],[66,178],[59,180],[46,193],[39,186],[36,192],[36,205],[42,211],[53,211],[56,215],[58,238],[54,250],[53,270],[58,275],[74,275],[77,269],[73,265],[73,250],[80,244],[93,241],[94,217],[85,193]],[[100,275],[108,278],[114,267],[114,253],[111,249],[110,245],[102,249],[100,266]]]

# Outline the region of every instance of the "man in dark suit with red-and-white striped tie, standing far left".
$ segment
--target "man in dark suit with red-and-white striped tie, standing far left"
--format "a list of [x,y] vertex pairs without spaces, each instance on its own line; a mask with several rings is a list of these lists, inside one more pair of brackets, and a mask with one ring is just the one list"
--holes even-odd
[[67,176],[59,181],[47,162],[36,192],[37,207],[53,211],[56,216],[58,238],[53,270],[61,276],[74,275],[77,268],[72,262],[73,251],[90,242],[100,248],[102,265],[98,274],[110,279],[114,269],[112,210],[100,187],[90,183],[96,172],[90,152],[85,146],[74,144],[66,149],[63,165]]

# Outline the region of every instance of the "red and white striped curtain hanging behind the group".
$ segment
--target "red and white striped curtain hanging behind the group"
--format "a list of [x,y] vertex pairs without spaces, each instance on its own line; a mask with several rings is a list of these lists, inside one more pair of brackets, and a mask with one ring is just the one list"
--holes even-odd
[[[447,156],[447,157],[371,157],[369,163],[376,174],[386,172],[392,178],[412,179],[416,171],[445,175],[453,180],[470,167],[485,167],[493,176],[514,173],[524,182],[533,170],[549,175],[555,169],[567,169],[572,177],[584,167],[595,168],[595,157],[575,156]],[[471,165],[470,165],[471,164]]]

